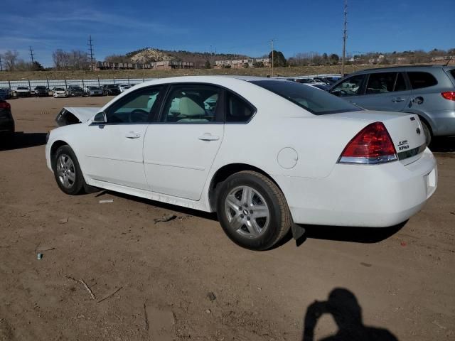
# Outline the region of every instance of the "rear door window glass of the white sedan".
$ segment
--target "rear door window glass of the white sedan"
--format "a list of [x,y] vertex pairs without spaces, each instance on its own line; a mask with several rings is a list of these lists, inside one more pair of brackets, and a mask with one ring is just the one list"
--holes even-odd
[[175,85],[164,104],[161,122],[208,123],[217,121],[221,90],[211,85]]

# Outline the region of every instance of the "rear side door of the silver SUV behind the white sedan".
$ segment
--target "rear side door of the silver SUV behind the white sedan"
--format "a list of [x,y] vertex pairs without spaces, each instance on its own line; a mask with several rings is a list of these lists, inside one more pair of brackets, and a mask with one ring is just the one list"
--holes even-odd
[[353,102],[365,109],[401,112],[410,97],[411,90],[402,72],[375,72],[368,75],[365,94]]

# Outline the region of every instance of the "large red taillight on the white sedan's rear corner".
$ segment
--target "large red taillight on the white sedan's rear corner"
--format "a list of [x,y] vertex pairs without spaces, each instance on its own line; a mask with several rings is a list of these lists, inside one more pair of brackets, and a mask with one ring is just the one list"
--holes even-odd
[[349,141],[339,163],[384,163],[397,160],[397,151],[384,124],[365,126]]

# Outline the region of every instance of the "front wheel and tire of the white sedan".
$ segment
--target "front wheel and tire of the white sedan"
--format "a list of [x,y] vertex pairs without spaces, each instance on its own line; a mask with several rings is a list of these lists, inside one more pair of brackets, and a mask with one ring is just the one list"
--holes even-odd
[[52,160],[52,169],[55,181],[63,193],[78,195],[87,186],[75,153],[68,145],[58,148]]

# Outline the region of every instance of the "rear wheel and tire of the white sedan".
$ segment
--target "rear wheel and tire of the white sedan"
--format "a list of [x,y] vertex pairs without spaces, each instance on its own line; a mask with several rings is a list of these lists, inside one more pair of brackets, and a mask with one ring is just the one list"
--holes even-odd
[[278,186],[255,171],[230,175],[220,185],[217,215],[235,244],[262,251],[272,248],[291,228],[291,212]]

